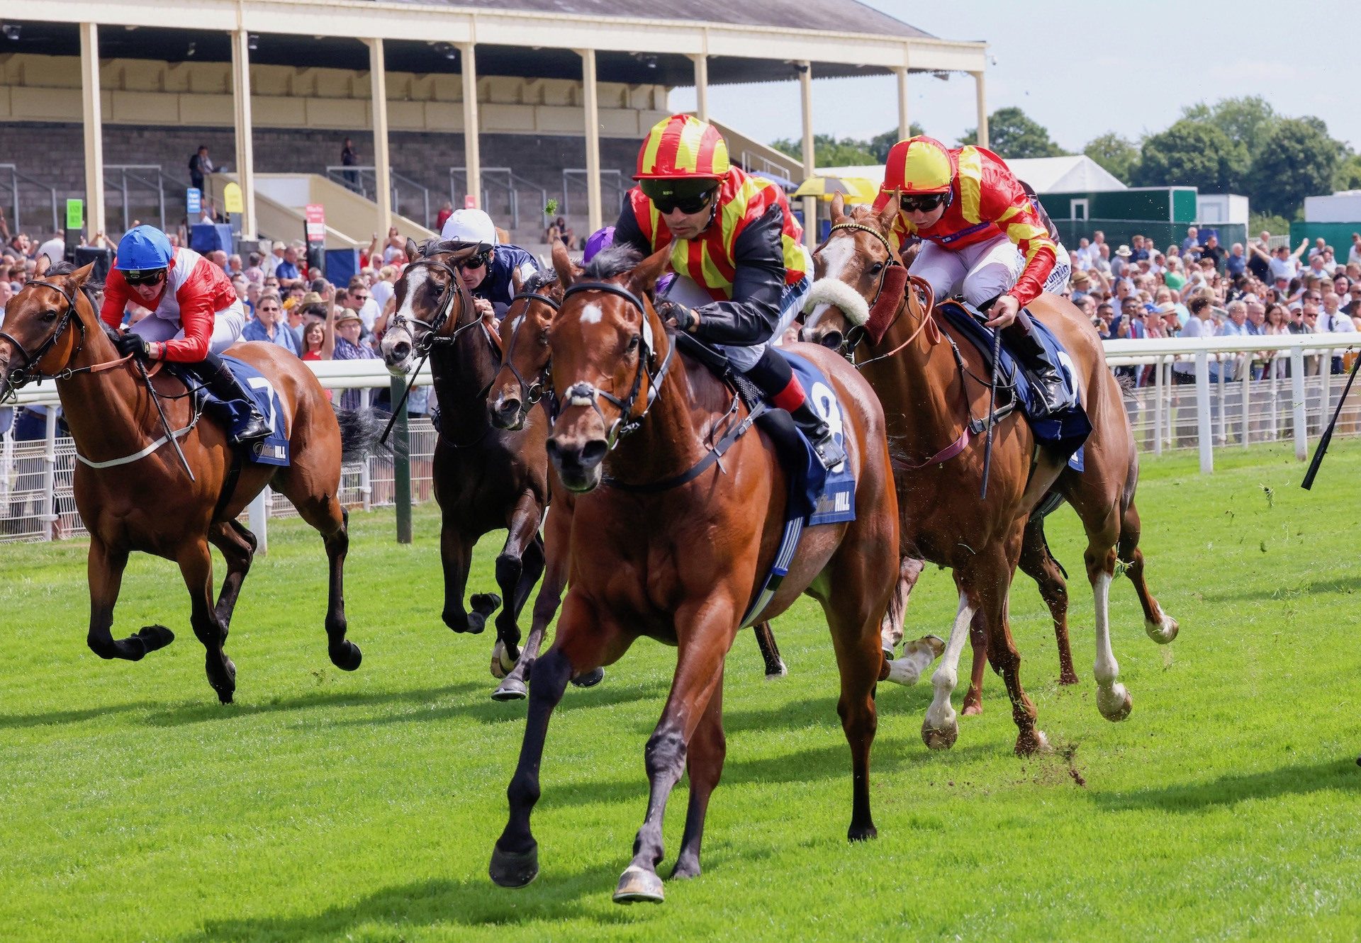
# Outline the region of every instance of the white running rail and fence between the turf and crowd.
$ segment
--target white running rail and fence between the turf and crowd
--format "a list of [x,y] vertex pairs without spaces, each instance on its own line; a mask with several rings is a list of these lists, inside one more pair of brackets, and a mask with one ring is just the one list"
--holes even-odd
[[[1198,448],[1200,471],[1214,469],[1214,448],[1247,446],[1292,438],[1298,459],[1308,456],[1309,435],[1317,435],[1332,418],[1345,377],[1331,371],[1334,358],[1345,361],[1361,348],[1361,333],[1288,335],[1258,337],[1207,337],[1168,340],[1112,340],[1105,343],[1106,362],[1117,374],[1131,367],[1151,367],[1147,385],[1124,389],[1124,407],[1141,450],[1161,454],[1168,449]],[[1255,380],[1248,366],[1259,351],[1274,351],[1277,366]],[[1190,373],[1175,370],[1190,367]],[[308,362],[323,386],[361,389],[367,404],[373,389],[388,389],[392,378],[381,361]],[[1173,382],[1181,373],[1185,381]],[[419,381],[427,384],[429,367]],[[53,384],[42,382],[18,393],[16,406],[57,403]],[[75,445],[57,435],[52,415],[46,435],[15,442],[4,433],[0,442],[0,540],[50,540],[82,532],[71,495]],[[1337,435],[1361,434],[1361,396],[1343,408]],[[430,495],[430,457],[434,431],[427,420],[411,420],[412,491],[416,499]],[[393,503],[392,463],[367,459],[344,467],[340,498],[351,506]],[[259,517],[253,529],[263,537],[264,514],[294,513],[280,495],[267,495],[253,505]]]

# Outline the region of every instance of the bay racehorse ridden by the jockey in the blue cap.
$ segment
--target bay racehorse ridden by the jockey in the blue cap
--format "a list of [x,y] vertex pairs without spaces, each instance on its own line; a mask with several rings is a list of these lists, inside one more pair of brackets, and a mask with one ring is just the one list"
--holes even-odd
[[[362,452],[377,440],[370,418],[338,415],[295,355],[275,344],[238,343],[229,352],[259,370],[279,395],[283,411],[276,420],[287,430],[291,453],[284,467],[242,461],[216,423],[199,422],[181,381],[155,369],[154,380],[143,380],[139,365],[120,357],[87,294],[93,268],[72,271],[63,263],[48,269],[48,260],[39,259],[33,280],[10,301],[0,331],[0,399],[29,381],[54,377],[75,440],[75,499],[90,531],[90,648],[102,659],[140,661],[174,641],[165,626],[118,640],[110,629],[128,554],[176,561],[189,589],[193,631],[207,649],[208,683],[230,704],[237,668],[223,644],[256,550],[255,535],[237,516],[269,486],[321,533],[329,562],[328,652],[338,668],[354,671],[362,655],[346,638],[350,537],[336,491],[342,453]],[[210,543],[227,562],[216,604]]]

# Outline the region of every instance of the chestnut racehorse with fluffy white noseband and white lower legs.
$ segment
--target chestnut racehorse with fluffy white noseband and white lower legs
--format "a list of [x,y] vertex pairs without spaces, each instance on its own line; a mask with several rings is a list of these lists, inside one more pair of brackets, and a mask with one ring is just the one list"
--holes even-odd
[[[1119,385],[1105,365],[1096,331],[1071,303],[1041,295],[1029,310],[1067,347],[1092,420],[1085,471],[1078,474],[1056,464],[1045,449],[1038,450],[1032,465],[1036,446],[1030,429],[1021,416],[1010,414],[996,427],[988,498],[977,499],[984,459],[981,442],[968,448],[969,425],[974,416],[987,414],[987,367],[962,351],[957,361],[953,340],[949,346],[940,344],[934,298],[930,286],[920,279],[912,279],[901,298],[879,297],[889,272],[900,264],[886,238],[897,211],[897,200],[893,200],[878,216],[870,208],[857,208],[847,216],[841,201],[833,200],[833,231],[815,254],[815,263],[819,279],[842,286],[833,286],[826,293],[840,301],[814,309],[804,335],[851,350],[885,403],[890,438],[912,453],[911,459],[894,463],[904,513],[904,552],[950,566],[955,573],[960,614],[942,665],[932,678],[935,698],[923,724],[923,738],[928,746],[949,747],[958,735],[950,694],[957,683],[964,630],[977,614],[980,631],[973,634],[973,686],[966,704],[977,704],[983,680],[979,649],[985,646],[1013,702],[1021,731],[1017,751],[1030,752],[1045,740],[1034,729],[1034,709],[1021,689],[1019,655],[1007,623],[1007,595],[1018,562],[1040,584],[1053,616],[1060,680],[1077,682],[1068,649],[1067,585],[1045,544],[1043,517],[1033,514],[1051,487],[1072,505],[1087,535],[1083,558],[1096,600],[1094,674],[1097,708],[1104,717],[1124,720],[1132,706],[1128,691],[1119,683],[1119,664],[1111,650],[1108,601],[1117,558],[1139,595],[1149,635],[1165,644],[1179,631],[1143,577],[1139,513],[1134,503],[1138,452]],[[871,308],[879,309],[881,327],[887,325],[878,337],[867,328]]]

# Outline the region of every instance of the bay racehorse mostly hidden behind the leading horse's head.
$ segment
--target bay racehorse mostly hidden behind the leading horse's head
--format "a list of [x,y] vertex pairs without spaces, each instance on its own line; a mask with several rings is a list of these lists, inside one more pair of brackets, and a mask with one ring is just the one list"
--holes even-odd
[[[547,427],[547,410],[542,404],[548,366],[548,329],[553,317],[562,306],[563,286],[580,275],[568,259],[566,246],[555,242],[553,246],[553,271],[529,276],[516,293],[502,321],[502,332],[509,335],[505,342],[505,358],[501,370],[487,393],[487,410],[493,425],[501,429],[521,429],[527,422],[543,423]],[[551,393],[550,393],[551,399]],[[491,695],[497,699],[520,698],[525,695],[525,679],[539,657],[544,631],[562,601],[562,591],[568,585],[568,546],[572,535],[572,508],[576,495],[562,487],[557,474],[548,468],[548,490],[553,495],[550,513],[543,524],[543,544],[547,562],[543,569],[543,584],[534,601],[534,621],[516,667],[505,676]],[[781,678],[787,674],[774,633],[769,622],[753,626],[761,659],[765,663],[766,678]]]

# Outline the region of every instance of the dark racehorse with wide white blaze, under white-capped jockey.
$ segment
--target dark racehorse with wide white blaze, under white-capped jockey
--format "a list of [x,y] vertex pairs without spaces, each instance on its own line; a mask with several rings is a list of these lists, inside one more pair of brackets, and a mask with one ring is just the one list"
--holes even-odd
[[[475,245],[440,239],[418,252],[415,241],[407,239],[407,257],[414,261],[397,279],[382,359],[393,376],[403,377],[418,359],[430,358],[440,400],[433,475],[441,513],[442,618],[453,631],[478,634],[504,597],[491,657],[493,675],[502,678],[520,657],[516,619],[543,572],[539,524],[548,505],[547,431],[542,423],[502,430],[489,420],[483,403],[501,366],[501,340],[459,278],[459,263],[475,252]],[[468,612],[463,595],[472,547],[483,533],[501,528],[508,531],[495,565],[502,595],[474,593]]]

